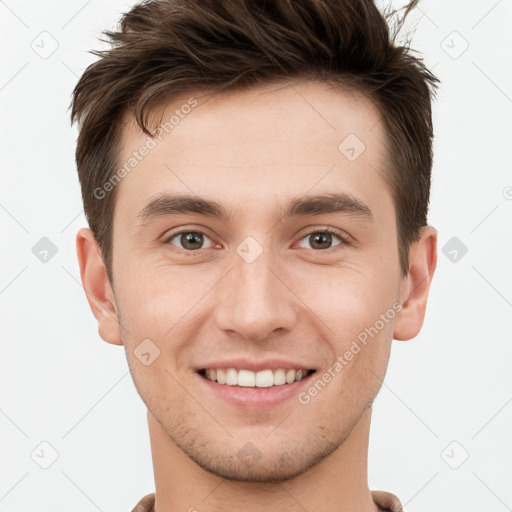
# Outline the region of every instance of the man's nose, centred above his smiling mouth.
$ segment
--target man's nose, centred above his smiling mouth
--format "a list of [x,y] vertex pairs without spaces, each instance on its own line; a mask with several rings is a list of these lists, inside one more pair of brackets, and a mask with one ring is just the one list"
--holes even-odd
[[217,327],[248,341],[293,329],[298,299],[289,288],[289,273],[264,250],[252,263],[236,255],[234,268],[222,281],[215,309]]

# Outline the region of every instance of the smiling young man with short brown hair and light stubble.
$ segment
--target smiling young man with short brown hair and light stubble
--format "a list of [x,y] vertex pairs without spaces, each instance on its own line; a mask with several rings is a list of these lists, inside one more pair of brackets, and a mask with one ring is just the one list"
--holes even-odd
[[367,450],[437,261],[437,78],[368,0],[145,2],[109,36],[72,104],[77,252],[148,409],[134,510],[401,510]]

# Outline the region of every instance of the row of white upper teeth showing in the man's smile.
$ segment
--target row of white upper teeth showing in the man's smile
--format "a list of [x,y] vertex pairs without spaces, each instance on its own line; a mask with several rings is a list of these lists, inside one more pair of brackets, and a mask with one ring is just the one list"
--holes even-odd
[[252,388],[269,388],[271,386],[291,384],[296,380],[301,380],[307,373],[307,370],[285,370],[283,368],[261,370],[259,372],[243,369],[237,370],[236,368],[207,368],[205,370],[206,377],[217,381],[219,384]]

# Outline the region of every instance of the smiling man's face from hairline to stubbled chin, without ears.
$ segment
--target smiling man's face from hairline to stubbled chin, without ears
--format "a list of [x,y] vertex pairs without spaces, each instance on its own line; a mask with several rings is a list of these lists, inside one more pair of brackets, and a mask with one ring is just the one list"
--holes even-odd
[[[191,110],[117,185],[122,343],[149,413],[192,460],[282,480],[342,445],[385,374],[403,278],[383,123],[364,96],[315,82],[182,108],[190,96],[160,111]],[[128,120],[120,162],[146,141]],[[267,387],[287,374],[300,380]]]

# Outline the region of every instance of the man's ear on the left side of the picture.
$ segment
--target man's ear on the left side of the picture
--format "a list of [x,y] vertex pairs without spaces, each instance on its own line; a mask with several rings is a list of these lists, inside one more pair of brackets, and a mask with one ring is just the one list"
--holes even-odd
[[89,306],[98,321],[101,338],[122,345],[114,292],[107,277],[101,249],[90,229],[82,228],[76,236],[80,277]]

